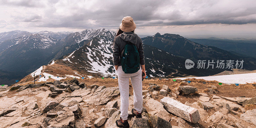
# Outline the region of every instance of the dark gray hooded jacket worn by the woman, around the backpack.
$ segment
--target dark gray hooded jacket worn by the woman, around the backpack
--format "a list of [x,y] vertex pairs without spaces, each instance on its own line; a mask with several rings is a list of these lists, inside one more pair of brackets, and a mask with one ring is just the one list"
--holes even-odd
[[114,65],[121,66],[121,60],[119,56],[121,52],[124,50],[124,46],[127,42],[131,42],[132,44],[135,44],[140,55],[140,65],[144,65],[145,61],[144,61],[143,45],[140,37],[133,32],[124,32],[115,37],[114,45],[113,45]]

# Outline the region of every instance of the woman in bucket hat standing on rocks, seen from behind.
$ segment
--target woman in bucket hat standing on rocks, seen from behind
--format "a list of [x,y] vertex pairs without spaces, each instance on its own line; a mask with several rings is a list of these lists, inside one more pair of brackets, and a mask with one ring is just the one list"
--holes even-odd
[[[120,24],[114,39],[113,58],[118,76],[121,106],[120,119],[116,120],[118,127],[128,128],[128,106],[129,106],[129,78],[133,87],[134,108],[132,114],[141,118],[142,111],[142,77],[146,77],[143,45],[140,37],[134,33],[136,24],[132,17],[126,16]],[[142,76],[142,73],[145,75]]]

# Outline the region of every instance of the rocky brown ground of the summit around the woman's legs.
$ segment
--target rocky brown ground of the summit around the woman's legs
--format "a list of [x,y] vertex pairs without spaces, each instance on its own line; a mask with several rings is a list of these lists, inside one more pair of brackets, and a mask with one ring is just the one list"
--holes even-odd
[[[0,127],[117,128],[115,121],[120,118],[118,84],[114,79],[102,81],[75,78],[0,86]],[[253,86],[240,85],[233,90],[231,85],[146,82],[143,82],[142,118],[138,119],[131,113],[130,86],[128,121],[132,128],[256,127]]]

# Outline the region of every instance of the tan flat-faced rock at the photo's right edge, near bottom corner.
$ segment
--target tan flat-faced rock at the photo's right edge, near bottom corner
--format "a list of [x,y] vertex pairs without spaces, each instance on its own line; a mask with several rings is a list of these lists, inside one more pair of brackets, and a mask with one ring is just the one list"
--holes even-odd
[[256,109],[247,110],[241,114],[240,119],[256,125]]

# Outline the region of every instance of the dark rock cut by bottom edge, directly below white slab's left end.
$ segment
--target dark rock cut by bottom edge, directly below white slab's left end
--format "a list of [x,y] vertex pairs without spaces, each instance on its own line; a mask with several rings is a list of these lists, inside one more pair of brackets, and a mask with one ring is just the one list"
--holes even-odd
[[172,128],[170,122],[158,117],[158,116],[150,116],[150,123],[153,128]]

